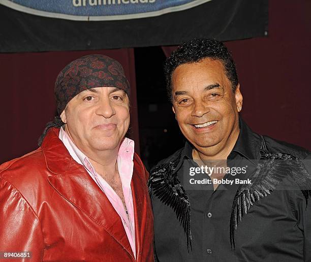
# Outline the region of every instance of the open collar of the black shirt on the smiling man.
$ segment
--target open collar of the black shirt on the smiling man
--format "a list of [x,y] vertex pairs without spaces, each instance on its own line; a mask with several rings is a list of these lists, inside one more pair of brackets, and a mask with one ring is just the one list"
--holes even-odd
[[[238,153],[247,159],[259,159],[260,158],[260,137],[252,131],[250,127],[243,121],[241,117],[239,117],[239,127],[240,133],[238,139],[228,156],[230,159],[233,156],[233,153]],[[176,170],[178,167],[181,166],[183,159],[193,159],[192,157],[192,150],[193,146],[189,141],[185,142],[185,145],[181,151],[180,161],[177,165]]]

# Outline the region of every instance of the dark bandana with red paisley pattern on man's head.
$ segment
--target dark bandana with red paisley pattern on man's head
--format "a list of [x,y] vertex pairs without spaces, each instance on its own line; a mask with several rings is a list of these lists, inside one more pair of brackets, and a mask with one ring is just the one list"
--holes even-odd
[[105,55],[82,56],[60,71],[55,82],[55,99],[60,115],[78,93],[94,87],[117,87],[130,97],[130,84],[122,65]]

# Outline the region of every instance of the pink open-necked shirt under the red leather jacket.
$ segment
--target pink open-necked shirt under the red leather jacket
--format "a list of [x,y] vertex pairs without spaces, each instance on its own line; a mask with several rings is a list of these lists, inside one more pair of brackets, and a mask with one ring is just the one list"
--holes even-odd
[[134,141],[125,138],[120,144],[120,148],[117,156],[117,165],[120,175],[120,180],[122,183],[123,195],[126,202],[126,207],[128,214],[123,206],[123,203],[112,187],[105,181],[105,179],[100,176],[87,156],[84,155],[79,148],[73,143],[65,130],[61,127],[59,132],[59,139],[64,143],[65,147],[69,151],[70,155],[74,160],[76,160],[80,165],[82,165],[91,178],[96,182],[96,184],[102,189],[106,194],[111,205],[115,211],[120,216],[123,223],[125,232],[129,239],[130,245],[132,247],[134,256],[136,257],[135,251],[135,222],[134,222],[134,207],[133,207],[133,197],[131,189],[131,180],[133,175],[133,156],[134,156]]

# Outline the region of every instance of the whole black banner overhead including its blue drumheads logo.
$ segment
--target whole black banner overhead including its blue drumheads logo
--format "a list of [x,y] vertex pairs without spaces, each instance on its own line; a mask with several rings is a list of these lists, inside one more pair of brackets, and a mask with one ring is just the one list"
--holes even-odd
[[267,36],[268,0],[0,0],[0,52]]

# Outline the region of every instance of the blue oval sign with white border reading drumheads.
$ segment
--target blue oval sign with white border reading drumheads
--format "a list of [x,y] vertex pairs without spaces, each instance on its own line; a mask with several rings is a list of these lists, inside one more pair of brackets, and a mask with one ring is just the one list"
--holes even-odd
[[81,21],[123,20],[186,10],[211,0],[0,0],[12,9]]

